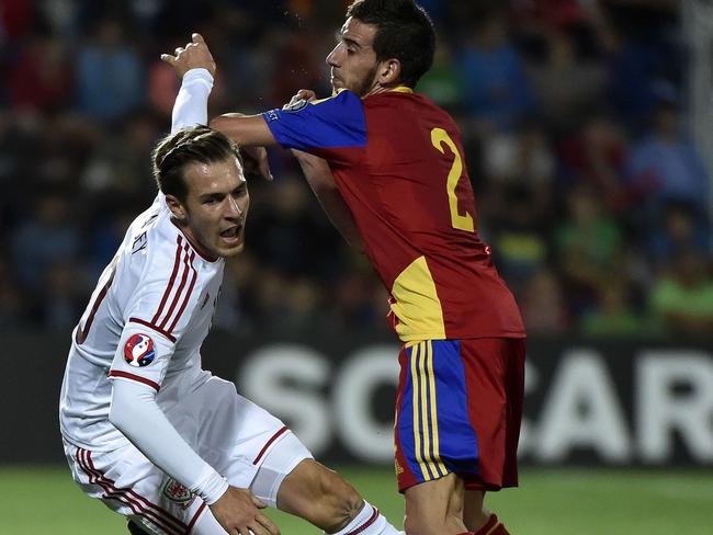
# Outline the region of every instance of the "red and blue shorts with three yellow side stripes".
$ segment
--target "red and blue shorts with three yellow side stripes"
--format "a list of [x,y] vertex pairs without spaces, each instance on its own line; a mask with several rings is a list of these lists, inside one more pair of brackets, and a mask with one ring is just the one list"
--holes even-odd
[[398,490],[446,474],[466,489],[518,485],[525,339],[427,340],[401,348]]

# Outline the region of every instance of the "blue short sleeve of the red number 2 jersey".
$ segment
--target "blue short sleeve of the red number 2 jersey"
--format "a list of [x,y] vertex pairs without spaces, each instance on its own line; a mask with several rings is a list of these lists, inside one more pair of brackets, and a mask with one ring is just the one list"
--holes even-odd
[[307,152],[321,149],[320,155],[328,157],[330,149],[362,148],[366,145],[364,106],[351,91],[271,110],[262,116],[275,140],[284,148]]

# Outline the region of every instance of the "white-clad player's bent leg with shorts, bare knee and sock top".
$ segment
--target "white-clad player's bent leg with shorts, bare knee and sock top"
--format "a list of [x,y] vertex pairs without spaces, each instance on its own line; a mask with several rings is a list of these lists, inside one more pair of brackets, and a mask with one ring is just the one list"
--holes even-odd
[[231,383],[212,377],[182,401],[181,411],[177,429],[185,425],[186,411],[195,411],[189,421],[204,423],[191,442],[234,487],[249,488],[268,505],[327,533],[349,533],[354,522],[360,535],[399,533],[343,478],[316,463],[283,422],[238,395]]

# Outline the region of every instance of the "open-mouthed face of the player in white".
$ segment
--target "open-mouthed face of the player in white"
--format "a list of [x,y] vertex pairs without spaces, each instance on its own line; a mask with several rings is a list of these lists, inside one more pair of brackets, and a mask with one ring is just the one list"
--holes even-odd
[[184,231],[213,257],[239,253],[245,244],[250,195],[238,160],[192,163],[184,179]]

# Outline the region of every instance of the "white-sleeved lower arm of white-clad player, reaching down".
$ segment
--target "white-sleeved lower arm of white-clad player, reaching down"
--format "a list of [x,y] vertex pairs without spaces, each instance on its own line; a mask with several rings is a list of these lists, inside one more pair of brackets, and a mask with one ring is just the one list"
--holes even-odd
[[166,474],[214,503],[228,483],[176,431],[144,385],[114,379],[109,420]]

